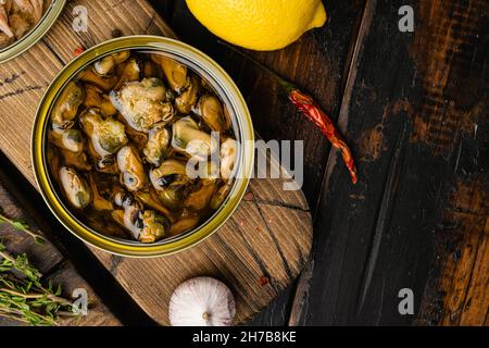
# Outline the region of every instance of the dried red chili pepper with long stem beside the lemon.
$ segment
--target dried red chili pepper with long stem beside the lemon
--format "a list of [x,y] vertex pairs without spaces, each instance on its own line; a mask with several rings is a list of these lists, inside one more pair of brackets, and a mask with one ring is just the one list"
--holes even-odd
[[344,141],[341,134],[338,132],[336,126],[333,124],[331,120],[328,117],[328,115],[321,109],[321,107],[317,104],[317,102],[314,101],[314,99],[301,91],[296,85],[286,80],[285,78],[280,77],[277,73],[275,73],[273,70],[266,67],[255,59],[244,54],[243,52],[239,51],[235,47],[222,42],[221,44],[227,46],[233,51],[237,52],[238,54],[242,55],[244,59],[252,61],[258,66],[260,66],[262,70],[267,72],[271,76],[273,76],[287,91],[287,95],[289,97],[289,100],[293,103],[293,105],[302,112],[304,116],[306,116],[310,121],[312,121],[319,129],[321,132],[328,138],[328,140],[331,142],[331,145],[336,148],[338,148],[341,151],[341,156],[343,158],[344,164],[347,165],[350,177],[353,184],[356,184],[356,167],[355,163],[353,161],[353,157],[351,154],[350,148],[348,147],[347,142]]

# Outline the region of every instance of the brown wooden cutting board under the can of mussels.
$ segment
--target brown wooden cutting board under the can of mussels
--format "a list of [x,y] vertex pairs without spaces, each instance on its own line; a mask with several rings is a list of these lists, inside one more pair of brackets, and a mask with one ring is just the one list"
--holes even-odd
[[[88,33],[72,29],[76,5],[88,10]],[[70,1],[39,44],[0,66],[0,149],[33,185],[30,130],[46,87],[78,47],[131,34],[174,37],[146,1]],[[168,324],[167,303],[179,283],[211,275],[228,284],[235,294],[238,324],[297,277],[311,244],[312,221],[302,191],[283,190],[281,179],[253,179],[231,219],[190,250],[165,258],[129,259],[89,249],[159,323]]]

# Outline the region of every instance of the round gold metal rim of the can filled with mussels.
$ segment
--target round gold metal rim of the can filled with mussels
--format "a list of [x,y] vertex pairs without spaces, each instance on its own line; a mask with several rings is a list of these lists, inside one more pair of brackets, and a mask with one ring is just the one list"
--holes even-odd
[[[233,187],[221,207],[197,227],[181,234],[143,244],[108,236],[83,223],[61,199],[47,158],[50,115],[64,87],[85,67],[109,54],[126,50],[166,55],[187,65],[206,83],[224,102],[238,144]],[[239,89],[229,75],[211,58],[184,42],[156,36],[128,36],[102,42],[67,64],[48,87],[37,111],[32,136],[33,167],[40,192],[57,219],[75,236],[99,249],[128,257],[156,257],[175,253],[197,245],[222,226],[238,207],[253,171],[254,135],[251,117]]]

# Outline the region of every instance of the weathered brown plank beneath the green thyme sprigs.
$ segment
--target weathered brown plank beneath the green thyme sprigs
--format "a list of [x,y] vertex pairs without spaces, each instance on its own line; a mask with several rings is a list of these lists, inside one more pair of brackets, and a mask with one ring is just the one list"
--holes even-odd
[[[46,236],[39,231],[30,215],[18,208],[18,202],[7,190],[4,173],[0,174],[0,209],[11,219],[25,221],[30,229],[39,235]],[[70,318],[61,321],[63,326],[72,325],[120,325],[120,321],[103,304],[100,298],[86,281],[76,272],[73,264],[51,244],[38,245],[34,239],[23,232],[14,229],[12,226],[0,225],[0,239],[7,246],[11,254],[26,253],[30,263],[41,272],[46,282],[51,282],[54,286],[62,286],[63,296],[67,299],[76,288],[84,288],[88,294],[89,311],[88,315],[79,318]],[[17,322],[4,320],[0,316],[0,326],[18,325]]]

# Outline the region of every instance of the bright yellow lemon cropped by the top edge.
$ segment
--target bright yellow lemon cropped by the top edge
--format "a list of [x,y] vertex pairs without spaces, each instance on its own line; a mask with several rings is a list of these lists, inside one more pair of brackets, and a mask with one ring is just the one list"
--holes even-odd
[[284,48],[326,22],[321,0],[187,0],[187,5],[214,35],[260,51]]

